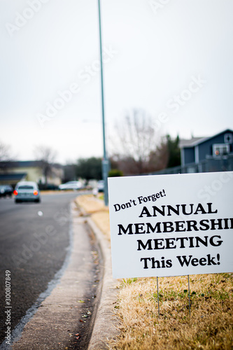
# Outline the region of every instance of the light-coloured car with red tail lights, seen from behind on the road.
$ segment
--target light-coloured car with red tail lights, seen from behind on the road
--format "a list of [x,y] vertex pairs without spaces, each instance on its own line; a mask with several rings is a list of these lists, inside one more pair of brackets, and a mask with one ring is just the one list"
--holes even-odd
[[18,202],[41,202],[41,195],[38,186],[32,181],[20,181],[13,192],[15,203]]

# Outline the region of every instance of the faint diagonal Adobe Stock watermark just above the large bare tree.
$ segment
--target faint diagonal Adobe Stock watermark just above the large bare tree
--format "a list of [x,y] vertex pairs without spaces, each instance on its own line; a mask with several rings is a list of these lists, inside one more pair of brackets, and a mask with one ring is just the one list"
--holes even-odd
[[[174,95],[171,99],[167,101],[167,109],[170,109],[172,113],[178,113],[182,106],[190,101],[193,94],[199,92],[202,87],[206,84],[206,80],[201,77],[201,74],[197,74],[197,76],[191,76],[190,83],[188,87],[181,91],[180,94]],[[154,120],[155,127],[160,129],[162,124],[167,123],[170,120],[170,114],[167,112],[160,113],[157,118]]]

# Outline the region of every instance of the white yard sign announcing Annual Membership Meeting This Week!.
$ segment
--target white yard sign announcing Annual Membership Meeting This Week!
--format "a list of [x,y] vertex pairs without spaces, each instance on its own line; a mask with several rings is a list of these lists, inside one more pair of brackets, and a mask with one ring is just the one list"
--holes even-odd
[[108,178],[113,277],[233,272],[233,172]]

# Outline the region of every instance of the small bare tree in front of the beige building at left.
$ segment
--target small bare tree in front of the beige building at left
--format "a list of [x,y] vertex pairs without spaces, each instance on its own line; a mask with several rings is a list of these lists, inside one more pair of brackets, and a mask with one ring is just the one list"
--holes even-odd
[[36,160],[41,161],[41,168],[43,176],[45,176],[45,184],[48,182],[48,176],[52,175],[52,165],[57,157],[57,152],[46,146],[36,146],[35,151]]

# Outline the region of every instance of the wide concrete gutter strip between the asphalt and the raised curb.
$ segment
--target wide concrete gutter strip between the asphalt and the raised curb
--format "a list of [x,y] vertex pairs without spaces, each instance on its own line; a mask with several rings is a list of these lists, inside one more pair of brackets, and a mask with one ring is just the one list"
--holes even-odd
[[[104,265],[102,254],[100,255],[100,274],[98,269],[93,268],[93,256],[91,249],[98,246],[98,240],[90,237],[90,225],[85,223],[86,218],[79,217],[71,204],[70,229],[72,228],[73,243],[70,247],[70,256],[67,258],[67,265],[62,270],[55,286],[50,293],[43,297],[36,308],[36,312],[30,315],[26,325],[20,328],[20,332],[13,339],[13,349],[87,349],[92,337],[92,328],[101,299],[102,281],[95,286],[94,280],[104,276]],[[96,231],[96,230],[95,230]],[[100,248],[98,251],[100,251]],[[95,288],[96,287],[96,288]],[[94,295],[96,297],[94,298]],[[93,299],[93,300],[92,300]],[[85,300],[77,304],[79,300]],[[88,302],[90,301],[90,303]],[[90,321],[83,321],[90,311]],[[88,314],[89,315],[89,314]],[[83,322],[79,323],[79,320]],[[78,332],[78,333],[77,333]],[[80,339],[76,337],[80,334]],[[101,339],[101,335],[98,335]],[[77,342],[78,340],[78,342]],[[77,347],[78,346],[78,347]],[[10,347],[11,348],[11,347]],[[5,349],[5,347],[3,348]],[[8,347],[7,347],[8,349]],[[99,349],[94,347],[93,349]],[[101,347],[101,349],[105,349]]]

